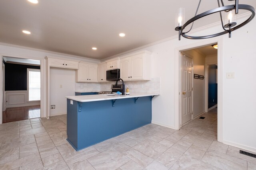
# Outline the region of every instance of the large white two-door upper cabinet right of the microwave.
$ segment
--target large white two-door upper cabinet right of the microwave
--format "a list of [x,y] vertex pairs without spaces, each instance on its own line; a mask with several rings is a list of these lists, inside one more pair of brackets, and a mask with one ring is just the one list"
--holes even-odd
[[151,53],[141,51],[120,60],[120,78],[123,80],[150,80]]

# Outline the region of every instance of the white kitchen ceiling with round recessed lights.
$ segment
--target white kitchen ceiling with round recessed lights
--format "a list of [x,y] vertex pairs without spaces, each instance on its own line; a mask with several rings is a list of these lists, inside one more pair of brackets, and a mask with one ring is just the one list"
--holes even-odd
[[[186,8],[188,20],[194,16],[198,2],[39,0],[38,4],[31,4],[27,0],[0,0],[0,42],[104,59],[177,35],[174,31],[176,9]],[[256,7],[255,0],[239,2]],[[224,0],[224,4],[230,1]],[[217,0],[202,0],[198,13],[216,7]],[[200,19],[194,27],[218,20],[211,15]],[[23,29],[31,34],[25,35],[21,32]],[[121,32],[126,36],[119,37]],[[93,51],[92,47],[98,50]]]

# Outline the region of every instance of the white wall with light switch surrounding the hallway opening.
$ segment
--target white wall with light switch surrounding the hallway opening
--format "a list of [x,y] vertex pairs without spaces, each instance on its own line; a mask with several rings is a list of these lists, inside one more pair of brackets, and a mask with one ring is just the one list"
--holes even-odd
[[[256,19],[246,26],[232,32],[232,38],[228,34],[217,37],[222,41],[222,58],[218,60],[218,89],[223,86],[223,142],[256,152],[256,120],[255,96],[256,78],[254,74],[254,63],[256,63]],[[200,35],[216,33],[221,28],[208,27],[200,31]],[[178,33],[177,33],[178,34]],[[181,47],[195,47],[196,44],[208,45],[211,39],[190,40],[182,37],[178,41],[178,36],[174,39],[134,49],[126,54],[141,50],[152,52],[152,77],[161,79],[161,95],[152,100],[152,122],[166,127],[175,126],[175,50]],[[215,40],[214,40],[215,41]],[[221,52],[220,52],[221,53]],[[219,67],[222,63],[222,68]],[[223,69],[223,70],[222,70]],[[222,72],[219,72],[222,70]],[[234,79],[227,79],[227,72],[235,72]],[[218,102],[221,102],[218,100]]]

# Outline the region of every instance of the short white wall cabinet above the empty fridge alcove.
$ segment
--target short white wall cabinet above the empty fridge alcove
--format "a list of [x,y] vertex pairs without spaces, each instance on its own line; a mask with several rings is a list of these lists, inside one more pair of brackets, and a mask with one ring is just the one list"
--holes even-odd
[[78,61],[49,58],[49,66],[78,69]]

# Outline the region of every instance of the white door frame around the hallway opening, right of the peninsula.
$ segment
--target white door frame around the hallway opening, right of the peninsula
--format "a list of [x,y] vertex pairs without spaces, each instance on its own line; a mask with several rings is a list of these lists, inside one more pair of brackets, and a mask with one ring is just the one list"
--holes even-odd
[[[195,41],[195,40],[190,40]],[[196,41],[197,42],[197,41]],[[181,97],[180,97],[180,53],[181,51],[186,51],[189,49],[195,49],[198,47],[211,45],[213,43],[218,43],[218,128],[217,128],[217,140],[223,143],[223,38],[216,37],[212,39],[204,39],[197,43],[192,43],[188,45],[184,45],[181,47],[177,47],[174,49],[174,110],[175,110],[175,129],[180,129],[181,127]]]

